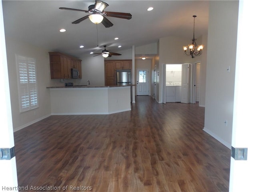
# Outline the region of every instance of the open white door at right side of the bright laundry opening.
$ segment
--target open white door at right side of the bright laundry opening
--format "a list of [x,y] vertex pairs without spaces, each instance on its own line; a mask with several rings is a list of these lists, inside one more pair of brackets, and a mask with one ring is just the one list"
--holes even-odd
[[181,101],[180,101],[182,103],[190,102],[190,77],[191,77],[191,65],[182,64]]

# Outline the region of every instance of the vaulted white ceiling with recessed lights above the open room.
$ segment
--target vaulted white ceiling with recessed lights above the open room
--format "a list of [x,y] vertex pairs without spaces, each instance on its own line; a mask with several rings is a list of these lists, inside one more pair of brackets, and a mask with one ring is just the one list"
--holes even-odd
[[[104,0],[103,0],[104,1]],[[195,38],[207,34],[209,1],[193,0],[105,0],[109,6],[105,11],[127,12],[132,19],[107,17],[114,26],[97,27],[89,19],[80,24],[73,21],[88,13],[60,10],[59,7],[88,10],[94,0],[72,1],[12,1],[3,0],[4,28],[8,37],[28,42],[49,51],[59,51],[81,57],[93,52],[101,52],[104,45],[110,52],[131,49],[157,42],[159,38],[180,36],[188,38],[193,35],[193,15],[195,19]],[[154,7],[150,12],[148,7]],[[66,32],[59,30],[65,28]],[[118,40],[114,40],[118,37]],[[84,48],[79,48],[84,45]],[[121,45],[121,48],[117,48]],[[182,49],[182,48],[181,48]],[[115,56],[118,57],[118,56]],[[114,59],[114,58],[113,58]]]

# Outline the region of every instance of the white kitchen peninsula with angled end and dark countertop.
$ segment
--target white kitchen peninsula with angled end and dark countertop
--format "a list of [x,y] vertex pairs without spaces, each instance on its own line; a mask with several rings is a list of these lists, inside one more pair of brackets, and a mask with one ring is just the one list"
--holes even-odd
[[131,86],[62,86],[50,90],[52,115],[113,114],[131,110]]

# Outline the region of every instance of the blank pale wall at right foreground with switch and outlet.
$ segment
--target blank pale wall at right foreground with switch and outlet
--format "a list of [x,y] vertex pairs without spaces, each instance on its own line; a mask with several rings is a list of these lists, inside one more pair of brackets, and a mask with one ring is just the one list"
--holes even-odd
[[232,137],[237,24],[238,1],[210,1],[204,130],[228,148]]

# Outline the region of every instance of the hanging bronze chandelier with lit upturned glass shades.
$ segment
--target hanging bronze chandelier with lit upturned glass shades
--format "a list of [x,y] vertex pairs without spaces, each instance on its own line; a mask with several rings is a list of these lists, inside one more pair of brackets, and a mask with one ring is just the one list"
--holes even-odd
[[202,54],[202,50],[204,48],[204,45],[198,45],[196,46],[196,39],[195,39],[195,18],[196,15],[193,15],[194,17],[194,31],[193,31],[193,39],[192,43],[188,46],[183,46],[184,54],[187,56],[191,56],[192,58],[195,58],[196,56],[199,56]]

